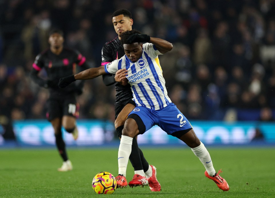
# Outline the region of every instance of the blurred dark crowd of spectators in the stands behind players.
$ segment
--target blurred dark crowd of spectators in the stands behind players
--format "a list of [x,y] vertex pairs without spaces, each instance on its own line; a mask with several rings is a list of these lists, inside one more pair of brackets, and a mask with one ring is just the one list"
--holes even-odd
[[[48,90],[29,73],[52,27],[98,67],[121,8],[133,14],[133,29],[173,44],[160,63],[189,120],[274,121],[275,0],[0,0],[1,124],[46,119]],[[114,121],[114,98],[102,77],[87,80],[79,118]]]

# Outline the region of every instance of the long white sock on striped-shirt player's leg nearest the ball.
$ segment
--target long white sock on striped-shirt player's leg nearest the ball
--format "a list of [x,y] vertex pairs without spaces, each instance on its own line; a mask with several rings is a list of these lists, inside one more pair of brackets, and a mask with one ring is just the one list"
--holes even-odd
[[121,135],[120,145],[118,149],[118,174],[126,177],[126,169],[129,156],[132,151],[133,138],[126,135]]

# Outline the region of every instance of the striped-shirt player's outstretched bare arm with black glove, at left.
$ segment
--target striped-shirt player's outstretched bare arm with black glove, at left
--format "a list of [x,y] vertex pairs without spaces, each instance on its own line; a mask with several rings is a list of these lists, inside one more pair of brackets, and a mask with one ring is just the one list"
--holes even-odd
[[58,86],[60,88],[65,88],[66,86],[68,86],[69,84],[71,84],[76,80],[93,79],[103,74],[106,74],[104,66],[86,69],[84,71],[79,72],[76,75],[70,75],[70,76],[60,78]]

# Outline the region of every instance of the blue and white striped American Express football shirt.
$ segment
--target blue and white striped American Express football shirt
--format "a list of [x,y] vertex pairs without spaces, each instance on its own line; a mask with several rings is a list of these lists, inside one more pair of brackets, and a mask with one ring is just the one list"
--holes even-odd
[[171,100],[167,95],[158,55],[161,53],[152,43],[145,43],[142,56],[137,62],[133,63],[124,55],[121,59],[106,64],[105,71],[115,74],[119,69],[126,68],[135,104],[159,110],[171,103]]

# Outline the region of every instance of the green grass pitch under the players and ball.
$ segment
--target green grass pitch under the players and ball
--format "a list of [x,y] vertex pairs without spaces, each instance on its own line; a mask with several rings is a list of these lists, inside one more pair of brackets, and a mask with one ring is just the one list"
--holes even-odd
[[[0,150],[0,197],[274,197],[274,148],[209,148],[214,168],[222,168],[230,190],[223,192],[204,176],[204,167],[184,147],[142,149],[157,168],[162,191],[149,187],[117,189],[97,195],[91,187],[101,171],[117,176],[117,148],[68,148],[74,170],[58,172],[62,161],[55,149]],[[130,162],[127,181],[133,176]]]

